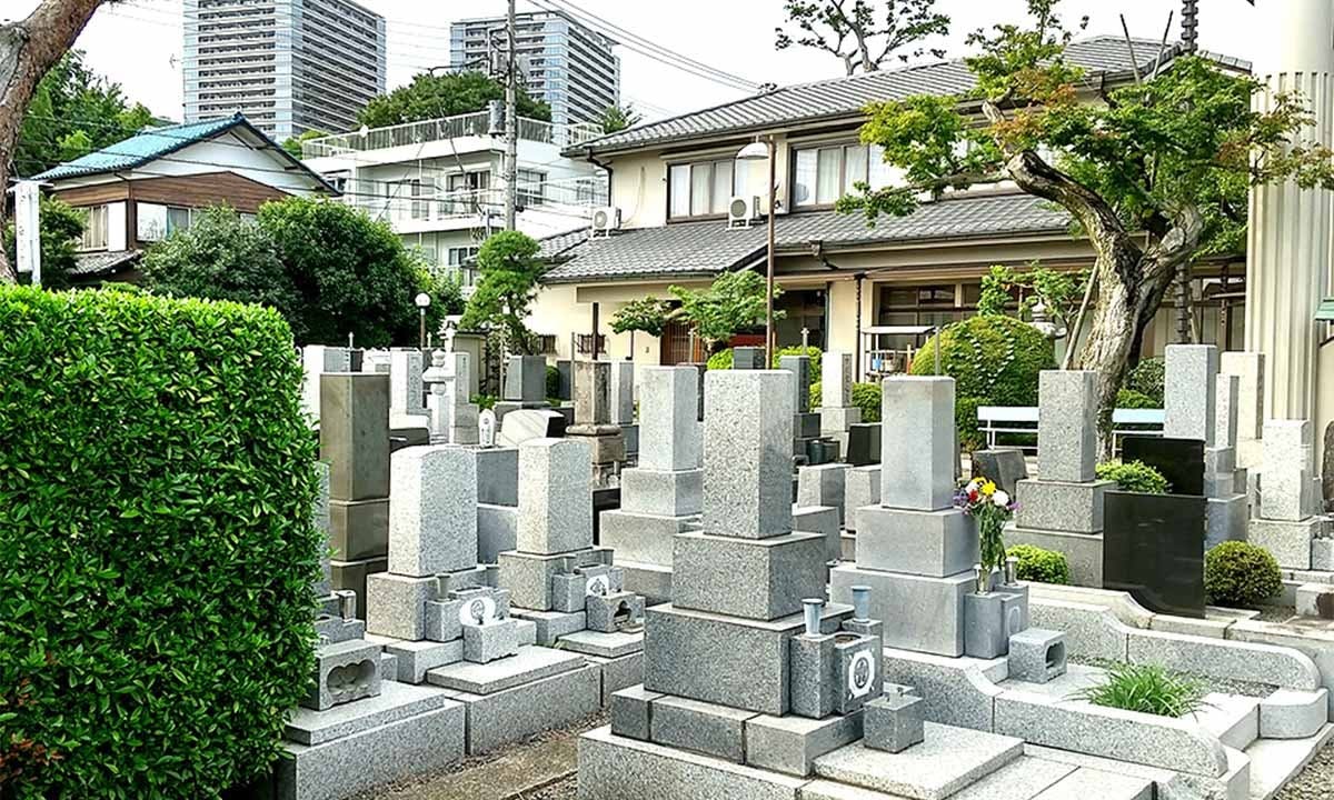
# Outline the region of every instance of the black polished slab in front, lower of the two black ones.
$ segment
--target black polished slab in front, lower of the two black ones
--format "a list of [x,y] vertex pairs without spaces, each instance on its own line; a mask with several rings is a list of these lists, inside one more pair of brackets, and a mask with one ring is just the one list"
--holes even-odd
[[1102,588],[1130,592],[1154,613],[1203,619],[1207,500],[1107,492]]

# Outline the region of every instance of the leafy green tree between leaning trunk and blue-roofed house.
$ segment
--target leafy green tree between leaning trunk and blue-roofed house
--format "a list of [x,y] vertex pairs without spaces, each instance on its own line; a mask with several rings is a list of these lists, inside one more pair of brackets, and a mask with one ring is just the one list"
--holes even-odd
[[153,115],[131,103],[120,84],[84,67],[83,51],[69,51],[33,92],[13,153],[17,175],[36,175],[139,133]]

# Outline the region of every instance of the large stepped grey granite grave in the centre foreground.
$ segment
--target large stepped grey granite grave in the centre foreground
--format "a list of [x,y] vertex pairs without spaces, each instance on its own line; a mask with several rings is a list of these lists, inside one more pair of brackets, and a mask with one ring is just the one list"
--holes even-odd
[[788,501],[792,383],[706,379],[703,527],[676,536],[672,603],[647,612],[643,684],[580,741],[580,797],[947,797],[1023,756],[886,687],[876,589],[826,601],[827,540]]

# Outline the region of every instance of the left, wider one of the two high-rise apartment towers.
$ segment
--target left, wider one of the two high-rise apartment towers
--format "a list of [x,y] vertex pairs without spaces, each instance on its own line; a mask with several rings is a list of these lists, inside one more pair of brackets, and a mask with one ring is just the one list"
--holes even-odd
[[184,0],[185,121],[240,111],[279,141],[356,127],[384,92],[384,17],[351,0]]

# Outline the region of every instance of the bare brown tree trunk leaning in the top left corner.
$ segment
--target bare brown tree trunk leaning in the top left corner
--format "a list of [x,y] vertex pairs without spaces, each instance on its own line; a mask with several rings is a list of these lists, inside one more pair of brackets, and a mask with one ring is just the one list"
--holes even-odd
[[[0,25],[0,187],[9,185],[19,131],[37,83],[73,45],[105,1],[41,0],[28,19]],[[0,228],[4,228],[5,207],[0,203]],[[0,283],[13,281],[13,268],[0,251]]]

